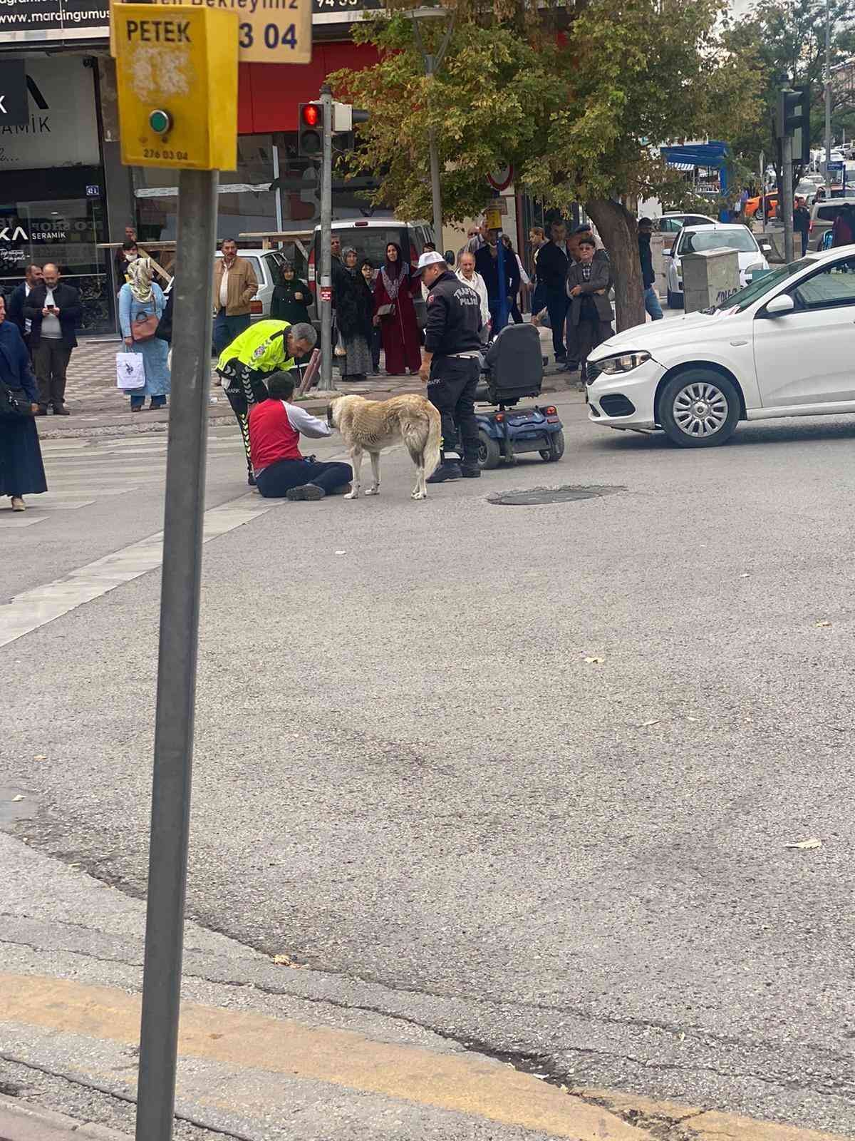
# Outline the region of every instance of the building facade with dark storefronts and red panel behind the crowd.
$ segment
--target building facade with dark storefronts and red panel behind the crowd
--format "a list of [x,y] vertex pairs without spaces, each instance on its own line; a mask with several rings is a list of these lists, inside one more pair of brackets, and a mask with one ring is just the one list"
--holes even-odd
[[[220,237],[318,220],[315,169],[295,153],[298,104],[317,98],[331,72],[374,62],[350,30],[380,2],[314,5],[311,64],[238,65],[238,162],[220,172]],[[25,84],[27,108],[25,121],[0,126],[0,290],[28,261],[54,261],[80,289],[89,334],[116,327],[121,282],[99,243],[121,242],[129,225],[140,244],[171,241],[178,204],[177,171],[121,162],[108,16],[87,0],[5,0],[0,11],[0,90]],[[276,179],[286,188],[271,189]],[[334,208],[337,217],[369,212],[355,195]]]

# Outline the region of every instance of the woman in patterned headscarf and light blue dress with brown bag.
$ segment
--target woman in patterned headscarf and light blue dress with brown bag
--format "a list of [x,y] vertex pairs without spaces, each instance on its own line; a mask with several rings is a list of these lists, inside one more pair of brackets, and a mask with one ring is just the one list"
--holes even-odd
[[[146,318],[160,321],[166,307],[163,290],[152,281],[154,266],[150,258],[137,258],[128,264],[129,281],[119,291],[119,323],[122,326],[125,349],[139,353],[146,373],[145,388],[132,388],[131,412],[140,412],[150,397],[149,408],[165,407],[169,394],[169,345],[145,327]],[[154,325],[155,322],[148,322]],[[136,337],[135,337],[136,332]],[[142,338],[142,339],[140,339]]]

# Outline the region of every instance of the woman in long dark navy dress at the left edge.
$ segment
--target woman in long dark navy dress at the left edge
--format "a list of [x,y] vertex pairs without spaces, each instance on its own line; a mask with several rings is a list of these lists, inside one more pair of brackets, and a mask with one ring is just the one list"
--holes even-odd
[[[13,511],[24,511],[24,495],[48,489],[41,462],[39,432],[33,413],[39,407],[39,389],[30,367],[30,354],[21,330],[6,321],[6,301],[0,297],[0,404],[11,398],[24,414],[0,415],[0,495],[11,499]],[[28,413],[28,414],[26,414]]]

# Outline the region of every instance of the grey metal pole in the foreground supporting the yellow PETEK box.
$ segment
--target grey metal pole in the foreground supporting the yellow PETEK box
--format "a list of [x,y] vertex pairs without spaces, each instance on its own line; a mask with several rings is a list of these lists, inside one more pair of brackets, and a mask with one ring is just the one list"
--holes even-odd
[[137,1141],[171,1141],[196,701],[217,170],[181,170]]

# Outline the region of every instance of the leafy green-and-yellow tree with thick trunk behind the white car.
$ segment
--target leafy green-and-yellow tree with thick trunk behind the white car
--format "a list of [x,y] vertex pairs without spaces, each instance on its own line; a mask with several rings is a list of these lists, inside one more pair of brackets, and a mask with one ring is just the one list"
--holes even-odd
[[429,217],[433,130],[443,215],[457,220],[483,209],[487,172],[513,163],[518,188],[546,207],[584,203],[612,259],[618,327],[638,324],[630,207],[657,196],[678,208],[690,191],[657,144],[727,139],[758,114],[757,70],[724,50],[718,11],[719,0],[461,0],[424,22],[438,41],[455,21],[430,76],[406,8],[358,24],[355,38],[376,44],[380,62],[331,78],[336,97],[372,113],[353,169],[380,176],[375,202]]

